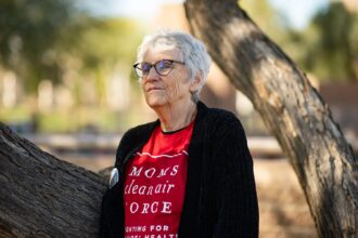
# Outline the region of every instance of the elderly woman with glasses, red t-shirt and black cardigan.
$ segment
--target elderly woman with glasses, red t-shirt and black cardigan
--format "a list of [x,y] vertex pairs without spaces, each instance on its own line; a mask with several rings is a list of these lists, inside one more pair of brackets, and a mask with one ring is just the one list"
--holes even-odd
[[[154,122],[130,129],[100,237],[257,237],[253,161],[236,117],[199,101],[210,60],[178,31],[144,38],[135,70]],[[113,184],[113,181],[112,181]]]

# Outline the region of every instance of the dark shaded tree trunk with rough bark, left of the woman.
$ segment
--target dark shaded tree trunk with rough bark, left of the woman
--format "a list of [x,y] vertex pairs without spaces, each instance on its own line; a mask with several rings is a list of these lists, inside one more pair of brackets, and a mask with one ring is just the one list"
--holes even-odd
[[0,237],[97,237],[106,185],[0,122]]

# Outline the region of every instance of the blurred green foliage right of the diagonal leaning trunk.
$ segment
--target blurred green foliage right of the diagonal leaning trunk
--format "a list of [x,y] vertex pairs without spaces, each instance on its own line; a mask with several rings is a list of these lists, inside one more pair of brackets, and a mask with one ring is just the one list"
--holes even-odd
[[358,80],[358,14],[342,2],[320,10],[303,30],[291,29],[267,0],[240,1],[255,23],[320,81]]

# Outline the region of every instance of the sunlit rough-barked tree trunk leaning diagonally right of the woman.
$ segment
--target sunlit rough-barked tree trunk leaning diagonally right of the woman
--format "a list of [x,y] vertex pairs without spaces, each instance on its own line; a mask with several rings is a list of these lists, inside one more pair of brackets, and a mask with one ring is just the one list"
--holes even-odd
[[305,74],[234,0],[188,0],[192,32],[289,156],[320,237],[358,237],[358,164]]

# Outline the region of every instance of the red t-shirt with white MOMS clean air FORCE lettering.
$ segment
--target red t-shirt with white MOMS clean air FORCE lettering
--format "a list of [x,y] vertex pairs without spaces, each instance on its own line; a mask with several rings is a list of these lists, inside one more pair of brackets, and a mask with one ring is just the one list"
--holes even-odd
[[193,122],[163,133],[157,127],[126,166],[126,238],[175,238],[183,206]]

